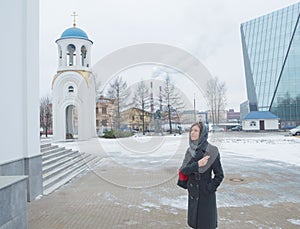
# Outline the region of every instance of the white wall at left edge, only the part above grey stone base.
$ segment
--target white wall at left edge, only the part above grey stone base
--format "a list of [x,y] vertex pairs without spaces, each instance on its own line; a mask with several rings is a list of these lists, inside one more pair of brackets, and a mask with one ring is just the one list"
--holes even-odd
[[1,0],[0,164],[39,154],[39,0]]

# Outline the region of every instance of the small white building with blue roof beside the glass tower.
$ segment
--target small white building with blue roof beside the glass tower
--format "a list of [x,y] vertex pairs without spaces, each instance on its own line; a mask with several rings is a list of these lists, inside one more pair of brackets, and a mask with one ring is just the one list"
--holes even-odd
[[269,111],[251,111],[243,117],[245,131],[278,130],[279,118]]

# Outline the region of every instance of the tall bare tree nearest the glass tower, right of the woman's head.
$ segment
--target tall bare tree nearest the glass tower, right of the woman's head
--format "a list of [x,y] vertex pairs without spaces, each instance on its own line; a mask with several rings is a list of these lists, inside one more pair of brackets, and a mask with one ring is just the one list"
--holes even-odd
[[221,112],[224,111],[226,105],[225,82],[220,82],[218,77],[209,80],[207,82],[205,97],[211,110],[213,124],[219,124]]

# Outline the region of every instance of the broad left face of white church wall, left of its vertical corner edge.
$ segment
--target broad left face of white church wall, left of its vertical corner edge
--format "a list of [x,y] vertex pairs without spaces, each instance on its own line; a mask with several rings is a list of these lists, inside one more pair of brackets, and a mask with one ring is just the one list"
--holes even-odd
[[[0,164],[22,158],[25,146],[23,138],[24,89],[22,85],[25,63],[23,62],[23,9],[21,6],[21,0],[1,1],[0,3],[1,28],[7,28],[7,22],[10,22],[10,29],[6,31],[5,36],[0,36],[1,52],[5,53],[5,55],[0,55],[0,63],[3,66],[1,70],[2,83],[0,84],[0,141],[2,148]],[[16,8],[13,9],[14,7]]]

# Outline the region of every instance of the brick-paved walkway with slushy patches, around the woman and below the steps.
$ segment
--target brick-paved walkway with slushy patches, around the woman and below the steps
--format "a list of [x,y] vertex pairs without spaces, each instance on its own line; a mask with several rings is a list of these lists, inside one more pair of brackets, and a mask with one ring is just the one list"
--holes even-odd
[[[182,155],[158,167],[102,163],[56,192],[28,203],[29,229],[189,228],[187,194],[176,186]],[[282,162],[222,155],[219,229],[299,228],[300,169]]]

